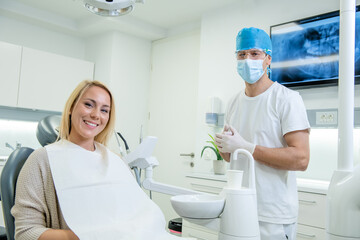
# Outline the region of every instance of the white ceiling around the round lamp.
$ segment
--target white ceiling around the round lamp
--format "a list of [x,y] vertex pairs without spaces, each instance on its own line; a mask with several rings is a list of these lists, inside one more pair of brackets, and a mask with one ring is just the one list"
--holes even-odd
[[145,0],[125,16],[100,17],[82,0],[1,0],[0,15],[78,36],[118,30],[150,40],[200,26],[201,16],[238,0]]

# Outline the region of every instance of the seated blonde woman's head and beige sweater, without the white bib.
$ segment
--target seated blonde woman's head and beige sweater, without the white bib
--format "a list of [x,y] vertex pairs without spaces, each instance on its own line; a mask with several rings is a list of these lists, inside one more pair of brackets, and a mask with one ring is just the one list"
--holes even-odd
[[[83,81],[66,102],[59,137],[93,151],[95,141],[106,144],[109,140],[114,116],[108,88],[97,81]],[[79,239],[62,216],[45,148],[36,150],[21,170],[12,214],[16,239]]]

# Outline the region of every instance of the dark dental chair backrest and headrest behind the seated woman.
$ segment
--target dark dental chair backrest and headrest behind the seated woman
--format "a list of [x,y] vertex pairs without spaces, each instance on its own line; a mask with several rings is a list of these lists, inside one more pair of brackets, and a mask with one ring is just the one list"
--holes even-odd
[[[42,146],[56,141],[58,136],[56,127],[58,127],[59,124],[60,116],[58,115],[45,117],[39,122],[36,136]],[[15,239],[15,219],[10,211],[15,203],[17,178],[25,161],[33,151],[34,149],[28,147],[21,147],[13,151],[1,173],[0,194],[7,240]]]

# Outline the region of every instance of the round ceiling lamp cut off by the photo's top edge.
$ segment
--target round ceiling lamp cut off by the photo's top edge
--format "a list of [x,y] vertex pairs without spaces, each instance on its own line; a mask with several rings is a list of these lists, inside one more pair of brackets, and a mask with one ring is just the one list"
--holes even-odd
[[84,0],[84,5],[97,15],[117,17],[130,13],[135,2],[144,3],[144,0]]

